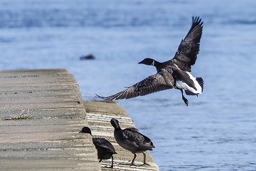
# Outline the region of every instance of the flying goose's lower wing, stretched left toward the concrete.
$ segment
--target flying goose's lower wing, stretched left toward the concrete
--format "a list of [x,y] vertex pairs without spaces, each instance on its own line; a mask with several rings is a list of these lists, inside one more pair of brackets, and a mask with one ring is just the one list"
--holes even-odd
[[119,100],[148,95],[170,88],[174,88],[174,78],[171,76],[171,73],[161,71],[114,95],[108,97],[97,96],[105,100]]

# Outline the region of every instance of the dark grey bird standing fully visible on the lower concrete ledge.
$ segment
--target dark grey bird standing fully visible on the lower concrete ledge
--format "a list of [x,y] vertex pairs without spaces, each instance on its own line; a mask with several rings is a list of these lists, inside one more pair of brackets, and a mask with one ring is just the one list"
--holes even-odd
[[[136,158],[136,153],[142,152],[144,155],[143,165],[149,165],[146,163],[146,150],[152,150],[154,148],[153,142],[145,135],[139,133],[136,128],[126,128],[122,130],[119,126],[118,120],[112,118],[110,121],[111,125],[114,127],[114,138],[117,143],[123,147],[125,150],[129,150],[134,154],[134,158],[130,165],[134,165],[134,160]],[[136,165],[135,165],[136,166]]]

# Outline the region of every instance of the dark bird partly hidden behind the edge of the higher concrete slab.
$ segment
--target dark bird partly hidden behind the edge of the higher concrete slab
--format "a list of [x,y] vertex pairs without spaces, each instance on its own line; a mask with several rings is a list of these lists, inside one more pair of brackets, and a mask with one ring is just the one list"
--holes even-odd
[[[92,132],[88,127],[82,128],[79,133],[89,133],[90,135],[92,135]],[[111,157],[112,164],[109,168],[113,168],[113,154],[117,154],[117,152],[115,152],[114,150],[113,145],[105,138],[92,138],[92,142],[97,149],[97,156],[98,159],[100,159],[99,162],[101,162],[102,160],[110,159]]]

